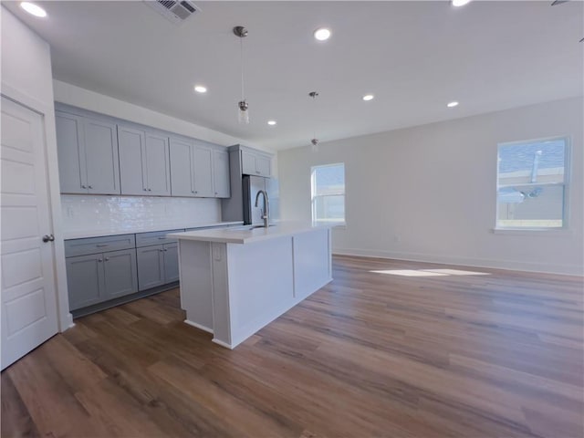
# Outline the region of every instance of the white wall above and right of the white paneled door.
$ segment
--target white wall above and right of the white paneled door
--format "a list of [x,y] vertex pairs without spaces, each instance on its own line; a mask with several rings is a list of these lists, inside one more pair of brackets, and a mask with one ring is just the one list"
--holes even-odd
[[[73,319],[68,311],[67,275],[58,186],[57,137],[53,106],[50,49],[47,42],[16,19],[5,7],[2,16],[2,94],[43,114],[47,145],[47,171],[52,230],[55,235],[57,308],[59,329],[65,330]],[[44,231],[45,233],[45,231]]]

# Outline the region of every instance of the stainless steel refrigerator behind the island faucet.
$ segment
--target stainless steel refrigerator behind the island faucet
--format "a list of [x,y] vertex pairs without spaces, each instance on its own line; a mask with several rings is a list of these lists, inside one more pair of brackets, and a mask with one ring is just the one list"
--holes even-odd
[[269,199],[269,219],[270,224],[276,224],[280,219],[280,193],[277,180],[274,178],[263,178],[261,176],[244,175],[244,224],[261,225],[264,199],[259,197],[259,203],[255,207],[255,196],[260,190],[265,190]]

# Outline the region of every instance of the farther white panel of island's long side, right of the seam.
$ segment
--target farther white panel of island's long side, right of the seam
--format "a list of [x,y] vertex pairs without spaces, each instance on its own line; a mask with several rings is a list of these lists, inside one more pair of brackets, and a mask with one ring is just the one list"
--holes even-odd
[[294,235],[294,296],[301,301],[332,280],[330,229]]

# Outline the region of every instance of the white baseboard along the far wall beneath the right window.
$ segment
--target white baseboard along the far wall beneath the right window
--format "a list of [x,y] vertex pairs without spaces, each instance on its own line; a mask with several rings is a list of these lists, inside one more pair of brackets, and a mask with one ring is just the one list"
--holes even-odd
[[459,265],[473,267],[488,267],[509,271],[537,272],[542,274],[558,274],[562,276],[584,276],[584,266],[552,265],[547,263],[515,262],[510,260],[492,260],[475,257],[458,257],[449,255],[429,255],[419,253],[396,253],[382,250],[358,248],[336,248],[333,255],[358,255],[363,257],[390,258],[412,262],[437,263],[440,265]]

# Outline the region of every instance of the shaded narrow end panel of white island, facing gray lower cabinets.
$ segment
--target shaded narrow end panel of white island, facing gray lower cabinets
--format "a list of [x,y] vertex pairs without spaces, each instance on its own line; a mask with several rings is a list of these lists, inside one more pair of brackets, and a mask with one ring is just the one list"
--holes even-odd
[[181,308],[185,322],[213,332],[213,275],[208,242],[179,240]]

